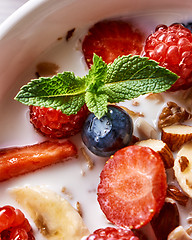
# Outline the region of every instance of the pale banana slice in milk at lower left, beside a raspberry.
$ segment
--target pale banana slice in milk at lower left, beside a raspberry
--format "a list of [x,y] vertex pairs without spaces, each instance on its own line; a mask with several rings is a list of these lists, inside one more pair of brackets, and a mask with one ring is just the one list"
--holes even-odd
[[16,201],[29,213],[49,240],[80,240],[89,231],[68,201],[44,187],[11,190]]

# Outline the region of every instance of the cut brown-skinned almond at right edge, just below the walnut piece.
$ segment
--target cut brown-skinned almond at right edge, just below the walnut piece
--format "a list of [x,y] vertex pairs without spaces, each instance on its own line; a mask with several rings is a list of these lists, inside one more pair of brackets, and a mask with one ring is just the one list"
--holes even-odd
[[192,140],[192,127],[187,125],[171,125],[162,128],[161,140],[167,143],[172,151]]

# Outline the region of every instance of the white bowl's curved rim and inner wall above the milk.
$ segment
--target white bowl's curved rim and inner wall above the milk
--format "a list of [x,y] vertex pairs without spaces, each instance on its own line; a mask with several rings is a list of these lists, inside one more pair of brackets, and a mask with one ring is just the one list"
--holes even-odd
[[31,61],[71,28],[125,13],[191,7],[190,0],[31,0],[0,27],[0,98]]

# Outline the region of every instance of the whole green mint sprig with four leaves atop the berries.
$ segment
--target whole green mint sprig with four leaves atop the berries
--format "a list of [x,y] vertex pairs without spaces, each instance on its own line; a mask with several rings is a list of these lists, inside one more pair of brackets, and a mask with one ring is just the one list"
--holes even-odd
[[15,99],[26,105],[60,109],[67,115],[76,114],[86,103],[101,118],[107,112],[108,103],[164,92],[177,79],[175,73],[146,57],[122,56],[107,65],[94,54],[86,76],[63,72],[52,78],[33,79],[21,88]]

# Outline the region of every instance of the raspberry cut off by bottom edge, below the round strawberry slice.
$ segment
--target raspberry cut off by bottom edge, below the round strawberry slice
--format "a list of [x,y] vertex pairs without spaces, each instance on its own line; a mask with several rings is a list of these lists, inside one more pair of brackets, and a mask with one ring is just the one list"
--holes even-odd
[[139,240],[130,229],[101,228],[89,235],[85,240]]

